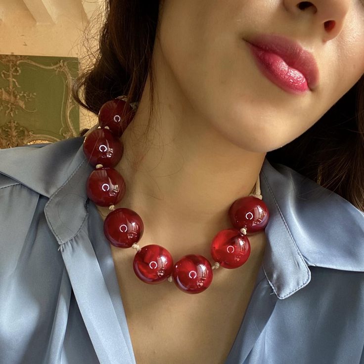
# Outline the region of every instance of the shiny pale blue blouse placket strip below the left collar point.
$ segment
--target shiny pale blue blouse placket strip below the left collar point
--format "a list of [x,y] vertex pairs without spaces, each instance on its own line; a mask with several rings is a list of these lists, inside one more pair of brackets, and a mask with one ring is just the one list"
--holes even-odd
[[100,364],[134,364],[84,228],[60,250],[82,318]]

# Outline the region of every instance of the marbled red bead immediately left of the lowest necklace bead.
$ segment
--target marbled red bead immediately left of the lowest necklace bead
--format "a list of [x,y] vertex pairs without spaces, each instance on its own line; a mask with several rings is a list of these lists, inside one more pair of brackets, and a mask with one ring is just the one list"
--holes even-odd
[[161,283],[172,273],[172,255],[163,246],[145,245],[135,255],[133,268],[137,277],[143,282]]

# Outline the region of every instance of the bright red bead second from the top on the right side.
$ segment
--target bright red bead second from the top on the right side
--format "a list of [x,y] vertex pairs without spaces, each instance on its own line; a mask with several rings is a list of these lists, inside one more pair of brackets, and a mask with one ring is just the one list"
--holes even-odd
[[250,241],[237,229],[219,231],[211,243],[211,256],[224,268],[241,267],[249,258]]

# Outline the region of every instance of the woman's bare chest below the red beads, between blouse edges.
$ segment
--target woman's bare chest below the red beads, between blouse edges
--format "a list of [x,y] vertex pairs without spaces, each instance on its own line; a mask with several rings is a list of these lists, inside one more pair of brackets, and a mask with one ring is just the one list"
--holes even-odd
[[263,260],[265,240],[255,240],[242,267],[219,268],[210,287],[196,295],[173,282],[140,281],[132,267],[134,249],[111,246],[137,364],[225,363]]

